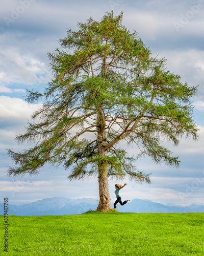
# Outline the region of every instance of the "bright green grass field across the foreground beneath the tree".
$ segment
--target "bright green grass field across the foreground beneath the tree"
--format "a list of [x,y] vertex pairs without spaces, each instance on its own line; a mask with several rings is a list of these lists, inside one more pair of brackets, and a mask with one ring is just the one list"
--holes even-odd
[[8,223],[1,255],[204,255],[204,213],[9,216]]

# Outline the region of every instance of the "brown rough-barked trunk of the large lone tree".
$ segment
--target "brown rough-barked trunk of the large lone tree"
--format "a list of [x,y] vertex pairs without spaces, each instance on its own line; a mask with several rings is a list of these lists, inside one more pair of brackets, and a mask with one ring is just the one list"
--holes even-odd
[[[98,124],[98,155],[106,156],[107,151],[105,150],[106,142],[106,121],[101,107],[98,108],[97,115],[97,124]],[[107,177],[107,162],[105,159],[101,159],[98,162],[98,185],[99,185],[99,204],[97,207],[98,211],[107,211],[111,208],[111,198],[109,194],[108,187],[108,177]]]

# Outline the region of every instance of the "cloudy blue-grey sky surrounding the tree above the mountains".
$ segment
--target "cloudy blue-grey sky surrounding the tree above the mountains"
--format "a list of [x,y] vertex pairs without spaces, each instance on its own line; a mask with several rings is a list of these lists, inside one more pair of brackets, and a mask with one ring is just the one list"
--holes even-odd
[[[136,162],[139,170],[151,173],[151,184],[138,184],[125,178],[122,199],[146,199],[162,204],[204,204],[204,0],[1,0],[0,3],[0,203],[21,205],[43,198],[99,199],[97,178],[67,180],[62,167],[43,167],[37,176],[9,178],[13,166],[6,148],[15,152],[27,144],[15,137],[25,131],[32,113],[41,102],[25,101],[26,89],[42,91],[50,81],[47,53],[54,53],[66,30],[91,16],[99,21],[107,11],[123,11],[123,25],[138,32],[153,56],[166,59],[167,69],[181,76],[189,86],[197,86],[192,98],[194,121],[199,127],[197,141],[182,138],[177,147],[167,144],[179,156],[174,169],[149,158]],[[124,144],[125,146],[125,144]],[[136,148],[127,148],[134,155]],[[109,180],[111,201],[114,184]]]

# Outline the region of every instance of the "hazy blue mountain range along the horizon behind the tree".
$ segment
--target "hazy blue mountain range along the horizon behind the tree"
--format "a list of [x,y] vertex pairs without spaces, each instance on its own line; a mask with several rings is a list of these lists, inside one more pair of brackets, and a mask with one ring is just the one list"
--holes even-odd
[[[111,203],[113,207],[113,203]],[[53,197],[38,200],[29,204],[11,205],[9,204],[9,215],[20,216],[40,216],[40,215],[73,215],[83,214],[90,209],[95,210],[98,200],[92,198],[69,199],[65,197]],[[191,204],[180,206],[173,204],[159,204],[150,200],[134,199],[121,206],[117,205],[117,210],[121,212],[204,212],[204,205]],[[0,204],[0,214],[4,215],[4,204]]]

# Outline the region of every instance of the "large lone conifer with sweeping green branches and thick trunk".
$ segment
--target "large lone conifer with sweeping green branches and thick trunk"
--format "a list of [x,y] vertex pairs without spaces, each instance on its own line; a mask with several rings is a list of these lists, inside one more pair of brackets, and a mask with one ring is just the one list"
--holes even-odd
[[100,22],[78,23],[79,30],[69,29],[61,48],[48,53],[53,79],[44,93],[28,90],[27,97],[30,103],[42,98],[43,106],[16,138],[37,143],[18,153],[8,150],[16,165],[9,176],[36,174],[45,163],[63,164],[69,179],[97,175],[97,210],[108,210],[108,177],[150,183],[121,140],[136,146],[138,157],[179,166],[160,140],[177,145],[183,135],[197,138],[190,102],[196,87],[167,71],[165,59],[152,57],[138,34],[122,26],[122,16],[108,12]]

